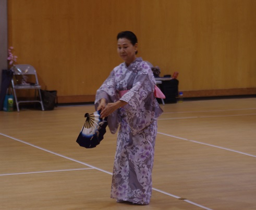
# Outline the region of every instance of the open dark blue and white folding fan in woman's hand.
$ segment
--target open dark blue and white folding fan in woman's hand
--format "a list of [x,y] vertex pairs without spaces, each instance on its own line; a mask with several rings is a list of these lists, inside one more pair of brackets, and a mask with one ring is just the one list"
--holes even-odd
[[86,117],[86,122],[77,138],[77,143],[81,147],[94,148],[100,144],[106,133],[107,117],[103,120],[100,111],[93,114],[86,113],[84,117]]

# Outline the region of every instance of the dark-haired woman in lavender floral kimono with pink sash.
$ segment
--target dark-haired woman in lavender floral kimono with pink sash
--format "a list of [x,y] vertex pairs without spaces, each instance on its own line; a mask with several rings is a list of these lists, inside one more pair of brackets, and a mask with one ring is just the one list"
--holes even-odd
[[117,35],[117,52],[124,60],[96,92],[95,109],[107,117],[111,133],[119,127],[111,198],[117,202],[149,204],[157,133],[163,110],[154,97],[155,79],[147,62],[137,58],[137,37]]

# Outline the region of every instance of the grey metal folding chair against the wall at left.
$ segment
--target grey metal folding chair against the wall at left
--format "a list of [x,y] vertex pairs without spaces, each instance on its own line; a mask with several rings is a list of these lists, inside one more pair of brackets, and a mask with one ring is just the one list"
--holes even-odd
[[[39,102],[44,111],[42,96],[40,93],[41,86],[38,82],[38,76],[34,67],[31,65],[14,65],[11,70],[14,72],[13,79],[11,80],[11,86],[14,92],[14,98],[19,112],[19,103],[32,103]],[[28,82],[29,81],[29,82]],[[34,100],[18,100],[16,90],[26,90],[29,93],[29,89],[34,89]],[[31,99],[31,98],[30,98]]]

